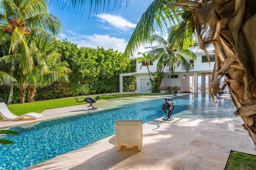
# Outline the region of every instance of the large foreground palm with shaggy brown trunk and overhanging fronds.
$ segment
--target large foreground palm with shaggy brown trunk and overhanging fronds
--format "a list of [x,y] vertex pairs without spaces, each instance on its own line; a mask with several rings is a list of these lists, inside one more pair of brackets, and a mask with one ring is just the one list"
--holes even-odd
[[[184,21],[181,21],[180,15],[186,11],[192,15],[184,14]],[[196,30],[199,47],[207,56],[206,47],[213,43],[216,61],[210,94],[212,98],[217,96],[220,80],[225,76],[232,101],[237,108],[234,114],[242,117],[243,126],[256,145],[255,1],[154,0],[137,24],[124,55],[133,55],[141,44],[150,41],[150,35],[157,28],[162,30],[162,23],[167,23],[168,20],[179,25],[176,39]]]

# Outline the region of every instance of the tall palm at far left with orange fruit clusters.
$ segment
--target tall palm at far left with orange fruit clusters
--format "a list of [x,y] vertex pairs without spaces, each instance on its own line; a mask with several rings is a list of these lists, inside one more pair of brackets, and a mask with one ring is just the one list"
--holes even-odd
[[[23,59],[20,60],[20,67],[25,73],[33,68],[32,57],[28,52],[26,35],[32,33],[48,35],[58,35],[62,28],[60,20],[48,14],[46,0],[1,0],[0,1],[0,29],[4,33],[10,34],[8,55],[16,55],[18,45]],[[12,60],[10,75],[14,75],[17,62]],[[12,102],[13,86],[10,86],[8,104]]]

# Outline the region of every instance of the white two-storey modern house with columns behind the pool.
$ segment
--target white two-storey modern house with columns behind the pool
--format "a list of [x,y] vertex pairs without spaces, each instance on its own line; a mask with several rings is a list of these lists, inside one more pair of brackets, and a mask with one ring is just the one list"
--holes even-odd
[[[149,53],[153,49],[156,49],[161,46],[150,46],[150,47],[144,47],[144,51],[142,53]],[[206,90],[208,89],[208,84],[210,84],[212,70],[214,67],[214,61],[215,61],[215,55],[213,53],[214,47],[213,45],[210,45],[208,47],[207,51],[210,55],[210,64],[208,62],[208,59],[201,49],[199,49],[198,44],[195,43],[195,47],[190,47],[190,50],[192,50],[194,53],[196,53],[198,59],[196,61],[190,60],[188,57],[186,57],[188,63],[190,63],[190,72],[186,72],[186,70],[183,68],[182,65],[180,65],[178,68],[175,69],[174,77],[171,79],[171,86],[180,86],[180,92],[182,91],[190,91],[190,88],[192,86],[192,91],[195,93],[198,93],[198,88],[194,87],[200,87],[200,92],[206,93]],[[146,66],[142,66],[142,69],[140,69],[141,63],[138,63],[138,58],[142,57],[142,54],[135,55],[133,57],[130,57],[130,59],[137,59],[136,64],[136,72],[127,73],[127,74],[120,74],[120,93],[123,92],[123,76],[136,76],[137,78],[137,93],[138,94],[145,94],[150,93],[151,90],[150,87],[147,85],[149,80],[148,76],[148,70]],[[157,69],[157,63],[158,61],[154,61],[152,65],[149,66],[150,72],[156,72]],[[169,86],[169,80],[168,80],[168,73],[169,73],[169,67],[166,66],[164,70],[166,77],[162,81],[161,86]],[[200,82],[198,82],[200,80]],[[208,80],[206,82],[206,80]]]

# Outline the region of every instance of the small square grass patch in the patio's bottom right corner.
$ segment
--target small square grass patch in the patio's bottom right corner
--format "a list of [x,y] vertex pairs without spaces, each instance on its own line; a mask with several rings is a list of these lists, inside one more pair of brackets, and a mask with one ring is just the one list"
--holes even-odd
[[225,170],[256,170],[256,156],[232,151]]

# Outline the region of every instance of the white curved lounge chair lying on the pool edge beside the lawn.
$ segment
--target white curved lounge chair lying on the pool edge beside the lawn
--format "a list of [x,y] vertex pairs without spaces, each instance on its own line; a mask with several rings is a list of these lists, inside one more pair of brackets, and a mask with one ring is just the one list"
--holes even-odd
[[12,112],[10,112],[10,110],[8,109],[5,103],[0,103],[0,115],[4,118],[4,121],[16,121],[24,117],[30,117],[36,120],[43,116],[39,113],[33,113],[33,112],[27,113],[25,115],[16,116],[12,114]]

